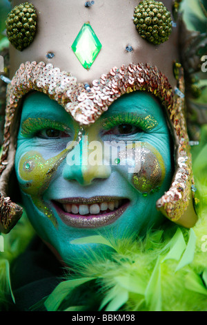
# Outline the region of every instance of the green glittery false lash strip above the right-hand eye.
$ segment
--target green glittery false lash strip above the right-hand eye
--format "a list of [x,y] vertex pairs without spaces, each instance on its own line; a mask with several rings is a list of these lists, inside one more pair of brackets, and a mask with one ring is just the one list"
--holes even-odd
[[158,122],[152,115],[141,117],[137,116],[136,113],[119,113],[118,115],[105,118],[102,126],[103,129],[109,130],[119,124],[131,124],[144,131],[150,131],[157,126]]

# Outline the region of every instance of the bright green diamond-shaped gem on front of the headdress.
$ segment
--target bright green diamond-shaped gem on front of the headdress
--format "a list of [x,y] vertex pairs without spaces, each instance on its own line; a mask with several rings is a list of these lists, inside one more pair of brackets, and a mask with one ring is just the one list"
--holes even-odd
[[83,68],[89,69],[101,50],[101,43],[90,24],[83,24],[72,44],[72,50]]

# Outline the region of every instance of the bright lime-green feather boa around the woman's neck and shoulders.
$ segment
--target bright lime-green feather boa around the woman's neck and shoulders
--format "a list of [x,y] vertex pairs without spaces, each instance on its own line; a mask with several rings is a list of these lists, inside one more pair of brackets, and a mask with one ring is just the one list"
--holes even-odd
[[[144,239],[90,236],[73,241],[110,247],[109,259],[81,259],[55,290],[31,310],[207,311],[207,145],[194,163],[199,221],[188,230],[168,221]],[[21,232],[21,236],[20,236]],[[0,306],[12,295],[9,264],[33,235],[23,217],[0,253]],[[13,301],[14,297],[12,296]]]

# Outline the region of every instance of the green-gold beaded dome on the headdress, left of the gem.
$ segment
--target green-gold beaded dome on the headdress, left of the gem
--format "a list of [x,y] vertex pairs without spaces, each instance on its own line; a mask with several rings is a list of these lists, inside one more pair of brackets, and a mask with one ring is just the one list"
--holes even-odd
[[6,31],[10,43],[17,50],[24,50],[34,40],[37,14],[32,3],[21,3],[8,14]]

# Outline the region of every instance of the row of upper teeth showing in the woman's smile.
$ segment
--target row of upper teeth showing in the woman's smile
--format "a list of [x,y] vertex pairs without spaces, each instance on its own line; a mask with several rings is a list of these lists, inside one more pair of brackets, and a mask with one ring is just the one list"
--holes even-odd
[[102,202],[95,204],[63,204],[63,209],[72,214],[80,214],[81,216],[85,216],[86,214],[99,214],[100,211],[114,211],[121,205],[121,200],[111,201],[111,202]]

